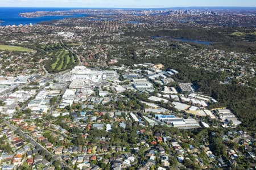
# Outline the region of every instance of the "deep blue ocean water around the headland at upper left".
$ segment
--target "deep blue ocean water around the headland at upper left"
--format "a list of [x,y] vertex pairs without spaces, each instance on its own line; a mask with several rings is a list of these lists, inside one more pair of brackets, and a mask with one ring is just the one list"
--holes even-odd
[[64,18],[75,18],[86,16],[86,14],[76,14],[72,16],[43,16],[39,18],[22,18],[19,13],[35,12],[35,11],[66,11],[76,8],[39,8],[39,7],[0,7],[0,26],[2,25],[20,25],[20,24],[36,24],[49,20],[60,20]]

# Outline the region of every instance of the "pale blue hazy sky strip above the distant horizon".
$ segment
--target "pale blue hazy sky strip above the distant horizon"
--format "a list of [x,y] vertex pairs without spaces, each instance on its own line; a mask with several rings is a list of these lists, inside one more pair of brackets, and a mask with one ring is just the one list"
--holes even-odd
[[0,0],[0,7],[256,7],[256,0]]

